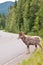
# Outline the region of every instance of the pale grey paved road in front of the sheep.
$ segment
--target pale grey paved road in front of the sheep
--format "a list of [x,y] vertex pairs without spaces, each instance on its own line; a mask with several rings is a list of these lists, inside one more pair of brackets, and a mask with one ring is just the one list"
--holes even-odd
[[[0,30],[0,65],[7,65],[6,63],[12,59],[13,61],[11,62],[17,62],[20,58],[27,57],[24,53],[27,49],[26,45],[21,39],[18,40],[17,38],[18,34],[12,34]],[[30,52],[33,52],[34,49],[34,46],[30,46]]]

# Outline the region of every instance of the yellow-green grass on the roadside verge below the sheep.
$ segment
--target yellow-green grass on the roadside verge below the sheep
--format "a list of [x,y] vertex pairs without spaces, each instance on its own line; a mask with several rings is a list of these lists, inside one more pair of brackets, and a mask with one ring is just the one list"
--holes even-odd
[[[43,39],[42,39],[43,46]],[[23,60],[19,65],[43,65],[43,53],[41,49],[37,49],[35,53],[33,53],[28,60]]]

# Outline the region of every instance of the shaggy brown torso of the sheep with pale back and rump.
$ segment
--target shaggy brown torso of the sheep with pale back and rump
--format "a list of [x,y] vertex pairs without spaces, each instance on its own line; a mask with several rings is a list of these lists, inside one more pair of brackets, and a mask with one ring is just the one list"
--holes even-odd
[[41,38],[39,36],[28,36],[26,37],[27,44],[39,44],[41,42]]

